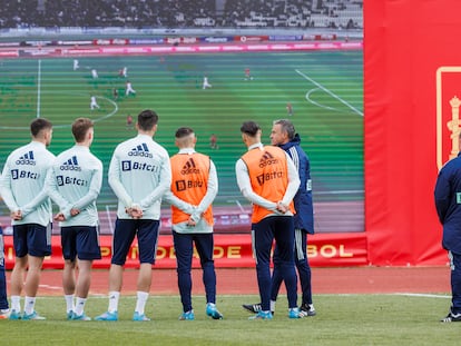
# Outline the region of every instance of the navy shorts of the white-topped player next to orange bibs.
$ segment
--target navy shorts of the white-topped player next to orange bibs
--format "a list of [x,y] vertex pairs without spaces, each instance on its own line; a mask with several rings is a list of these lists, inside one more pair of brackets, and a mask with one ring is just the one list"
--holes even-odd
[[117,219],[112,238],[112,265],[125,265],[135,236],[138,239],[140,264],[155,264],[158,246],[158,220]]

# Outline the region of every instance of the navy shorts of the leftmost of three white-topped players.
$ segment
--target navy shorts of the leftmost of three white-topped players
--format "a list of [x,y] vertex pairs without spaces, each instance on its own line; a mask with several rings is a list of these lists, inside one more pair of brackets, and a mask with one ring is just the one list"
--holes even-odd
[[27,255],[45,257],[51,255],[51,224],[13,225],[13,247],[16,257]]

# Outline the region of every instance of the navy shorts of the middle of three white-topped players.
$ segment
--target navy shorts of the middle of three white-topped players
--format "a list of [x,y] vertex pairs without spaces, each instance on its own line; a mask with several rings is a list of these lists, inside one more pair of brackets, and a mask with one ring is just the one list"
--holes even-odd
[[101,258],[99,229],[96,226],[61,227],[62,257],[68,260]]

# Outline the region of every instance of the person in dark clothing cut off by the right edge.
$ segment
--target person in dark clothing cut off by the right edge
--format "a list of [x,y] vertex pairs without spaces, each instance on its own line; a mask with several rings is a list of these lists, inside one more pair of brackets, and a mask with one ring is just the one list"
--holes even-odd
[[451,308],[442,322],[461,322],[461,155],[440,170],[434,198],[451,267]]

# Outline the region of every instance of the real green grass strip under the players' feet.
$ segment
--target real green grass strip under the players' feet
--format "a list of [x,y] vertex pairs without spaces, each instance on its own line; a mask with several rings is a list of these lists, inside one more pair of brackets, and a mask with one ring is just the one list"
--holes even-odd
[[[146,314],[151,322],[130,320],[134,297],[122,297],[119,322],[67,322],[62,297],[39,297],[43,322],[0,320],[4,345],[444,345],[459,339],[457,324],[441,324],[448,296],[317,295],[317,316],[286,317],[279,297],[273,320],[247,320],[242,304],[256,296],[219,296],[223,320],[208,319],[204,297],[194,297],[196,320],[178,320],[177,296],[153,296]],[[90,297],[86,312],[96,316],[107,298]]]

